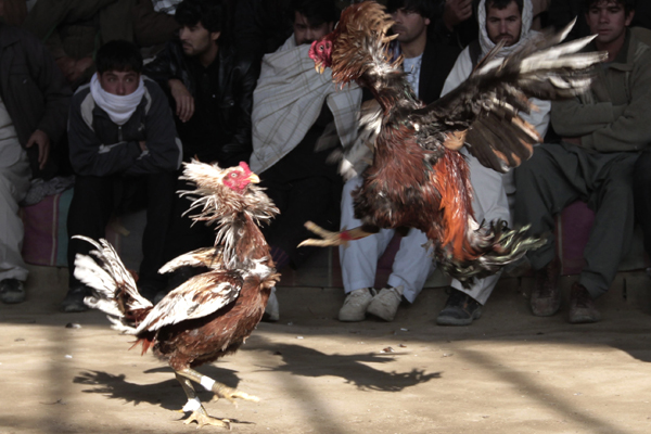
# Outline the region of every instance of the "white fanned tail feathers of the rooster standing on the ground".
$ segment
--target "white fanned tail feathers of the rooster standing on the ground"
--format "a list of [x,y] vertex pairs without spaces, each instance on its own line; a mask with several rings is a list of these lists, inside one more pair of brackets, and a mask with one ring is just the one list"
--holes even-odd
[[131,334],[138,318],[152,308],[150,301],[138,292],[131,273],[106,240],[94,241],[87,237],[73,238],[87,241],[95,250],[88,255],[75,257],[75,278],[92,289],[92,295],[84,299],[87,306],[106,312],[113,329]]

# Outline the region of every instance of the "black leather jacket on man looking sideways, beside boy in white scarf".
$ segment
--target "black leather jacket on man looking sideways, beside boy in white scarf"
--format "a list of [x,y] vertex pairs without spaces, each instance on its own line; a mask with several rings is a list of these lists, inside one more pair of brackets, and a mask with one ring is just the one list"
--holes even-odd
[[[208,155],[217,155],[219,164],[228,166],[240,161],[248,161],[253,150],[251,144],[251,111],[253,107],[253,90],[257,80],[259,65],[250,58],[237,58],[234,51],[219,47],[219,82],[218,100],[220,101],[219,118],[216,119],[224,135],[220,137],[221,148],[207,151]],[[167,81],[177,78],[186,85],[190,93],[196,95],[195,78],[191,74],[189,60],[183,53],[180,41],[167,43],[165,50],[145,66],[145,74],[156,80],[165,90]],[[174,99],[170,104],[174,106]],[[175,116],[177,122],[178,117]],[[179,131],[181,128],[179,128]],[[181,136],[181,141],[184,138]],[[192,155],[186,155],[186,159]]]

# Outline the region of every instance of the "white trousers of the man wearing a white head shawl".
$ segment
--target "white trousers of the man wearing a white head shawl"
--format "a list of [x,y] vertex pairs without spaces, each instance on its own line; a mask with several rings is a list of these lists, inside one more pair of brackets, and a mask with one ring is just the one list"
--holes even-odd
[[[505,182],[512,179],[512,176],[510,173],[502,175],[482,166],[477,158],[472,155],[467,154],[467,156],[470,166],[470,182],[474,190],[472,207],[475,219],[480,224],[482,220],[489,222],[495,219],[502,219],[510,227],[511,213],[505,191]],[[500,276],[501,271],[485,279],[477,279],[469,289],[464,289],[458,280],[452,279],[451,286],[464,292],[483,305],[490,296]]]

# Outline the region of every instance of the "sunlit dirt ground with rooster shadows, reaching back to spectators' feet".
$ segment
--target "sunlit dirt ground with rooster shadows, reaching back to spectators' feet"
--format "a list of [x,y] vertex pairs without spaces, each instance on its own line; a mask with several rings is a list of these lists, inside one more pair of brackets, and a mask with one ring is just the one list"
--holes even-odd
[[[103,314],[56,311],[65,270],[37,271],[28,302],[0,305],[0,433],[194,432],[170,369]],[[206,408],[241,433],[651,433],[648,278],[618,276],[587,326],[531,316],[527,285],[502,280],[461,328],[434,322],[443,289],[394,322],[342,323],[341,289],[280,288],[281,321],[199,369],[259,403]]]

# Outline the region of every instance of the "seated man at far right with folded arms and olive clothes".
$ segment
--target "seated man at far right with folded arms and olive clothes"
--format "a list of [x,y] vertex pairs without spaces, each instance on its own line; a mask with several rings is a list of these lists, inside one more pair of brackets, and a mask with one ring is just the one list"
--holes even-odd
[[[585,18],[597,34],[587,50],[608,52],[591,90],[554,102],[551,123],[560,143],[544,143],[515,169],[515,221],[531,233],[553,229],[553,215],[583,200],[595,210],[584,250],[586,266],[573,283],[569,322],[596,322],[595,298],[604,294],[630,246],[634,224],[633,170],[651,142],[651,47],[628,30],[634,0],[585,0]],[[536,316],[560,306],[559,261],[553,239],[528,253],[535,272],[531,306]]]

